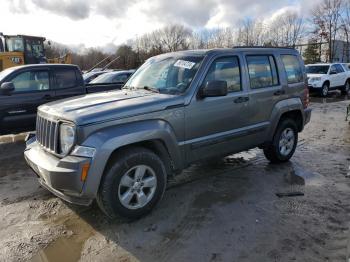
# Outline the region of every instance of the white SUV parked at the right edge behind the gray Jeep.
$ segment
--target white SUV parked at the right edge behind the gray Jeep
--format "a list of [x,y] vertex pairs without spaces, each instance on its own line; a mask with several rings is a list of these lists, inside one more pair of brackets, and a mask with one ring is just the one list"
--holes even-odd
[[307,65],[309,89],[317,90],[324,97],[332,89],[348,93],[350,91],[350,71],[344,65],[340,63]]

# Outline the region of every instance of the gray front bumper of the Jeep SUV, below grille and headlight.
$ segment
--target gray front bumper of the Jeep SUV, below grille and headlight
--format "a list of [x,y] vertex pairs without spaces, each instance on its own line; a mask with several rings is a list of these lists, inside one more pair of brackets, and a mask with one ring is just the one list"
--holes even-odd
[[37,142],[27,145],[24,158],[38,175],[40,184],[54,195],[74,204],[91,204],[93,199],[84,197],[84,182],[81,181],[82,168],[90,163],[89,158],[57,158],[47,153]]

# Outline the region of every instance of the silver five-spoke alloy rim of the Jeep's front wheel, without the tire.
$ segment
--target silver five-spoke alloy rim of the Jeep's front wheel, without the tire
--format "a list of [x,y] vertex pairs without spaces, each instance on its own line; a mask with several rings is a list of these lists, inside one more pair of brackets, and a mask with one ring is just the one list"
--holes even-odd
[[146,165],[130,168],[122,176],[118,198],[128,209],[139,209],[147,205],[153,198],[157,188],[157,177],[154,170]]

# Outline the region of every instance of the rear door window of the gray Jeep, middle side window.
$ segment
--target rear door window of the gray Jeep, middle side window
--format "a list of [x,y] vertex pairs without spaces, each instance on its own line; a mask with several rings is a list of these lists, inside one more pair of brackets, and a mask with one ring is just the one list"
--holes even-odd
[[251,89],[279,84],[276,62],[272,55],[248,55],[247,64]]

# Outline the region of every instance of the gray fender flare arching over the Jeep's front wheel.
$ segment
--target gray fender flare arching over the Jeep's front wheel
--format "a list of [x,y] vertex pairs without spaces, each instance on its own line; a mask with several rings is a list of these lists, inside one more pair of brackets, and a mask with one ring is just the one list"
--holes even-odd
[[144,147],[156,153],[169,174],[183,168],[183,159],[172,127],[162,120],[134,122],[109,127],[92,134],[84,146],[96,148],[91,169],[84,184],[84,194],[95,197],[102,176],[111,159],[126,148]]

